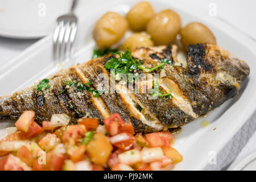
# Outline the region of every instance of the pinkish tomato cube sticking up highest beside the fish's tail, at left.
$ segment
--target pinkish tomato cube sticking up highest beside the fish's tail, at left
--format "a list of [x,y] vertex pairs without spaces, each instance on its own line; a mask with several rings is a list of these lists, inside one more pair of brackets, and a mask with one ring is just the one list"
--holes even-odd
[[19,119],[15,122],[15,126],[18,130],[27,132],[30,128],[31,123],[34,121],[35,112],[31,110],[26,110]]

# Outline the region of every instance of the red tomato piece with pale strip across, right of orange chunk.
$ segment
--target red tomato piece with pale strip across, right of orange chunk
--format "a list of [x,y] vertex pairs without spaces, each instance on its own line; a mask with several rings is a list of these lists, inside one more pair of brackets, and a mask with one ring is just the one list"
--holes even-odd
[[110,138],[113,146],[122,150],[130,150],[133,147],[133,135],[127,132],[119,133]]

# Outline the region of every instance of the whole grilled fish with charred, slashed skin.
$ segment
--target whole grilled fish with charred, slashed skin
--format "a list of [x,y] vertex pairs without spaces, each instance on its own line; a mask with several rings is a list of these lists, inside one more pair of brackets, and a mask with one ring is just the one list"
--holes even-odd
[[[49,77],[48,89],[38,91],[36,83],[31,88],[0,97],[0,119],[17,119],[24,110],[34,110],[39,123],[49,121],[52,114],[62,113],[69,115],[73,123],[85,116],[102,122],[111,114],[119,113],[125,121],[133,123],[137,132],[167,130],[185,125],[235,96],[250,72],[245,61],[215,45],[189,46],[187,65],[180,64],[176,52],[175,45],[142,47],[132,52],[134,59],[143,60],[144,67],[152,68],[164,59],[169,60],[169,64],[154,73],[160,74],[160,91],[171,93],[171,99],[149,99],[151,93],[129,92],[129,87],[121,84],[114,85],[114,93],[94,97],[92,91],[102,84],[98,78],[101,73],[109,78],[109,85],[112,84],[104,65],[118,55],[108,55],[61,70]],[[89,89],[67,87],[66,81],[84,85],[89,82]],[[147,79],[146,85],[152,87],[152,80]],[[142,84],[138,89],[142,91]]]

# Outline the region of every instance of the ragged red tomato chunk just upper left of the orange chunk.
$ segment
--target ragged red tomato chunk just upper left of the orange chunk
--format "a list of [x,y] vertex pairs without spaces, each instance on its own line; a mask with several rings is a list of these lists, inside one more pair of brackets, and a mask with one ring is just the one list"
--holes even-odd
[[69,142],[70,144],[75,144],[77,139],[84,137],[86,128],[84,125],[70,125],[67,127],[63,135],[63,142]]

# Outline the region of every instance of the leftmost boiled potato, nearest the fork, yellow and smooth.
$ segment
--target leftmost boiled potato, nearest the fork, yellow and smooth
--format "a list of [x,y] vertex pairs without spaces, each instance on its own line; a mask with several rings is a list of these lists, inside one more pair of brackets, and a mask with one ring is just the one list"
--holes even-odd
[[117,43],[128,29],[128,23],[118,13],[108,12],[96,23],[93,38],[101,49],[109,48]]

